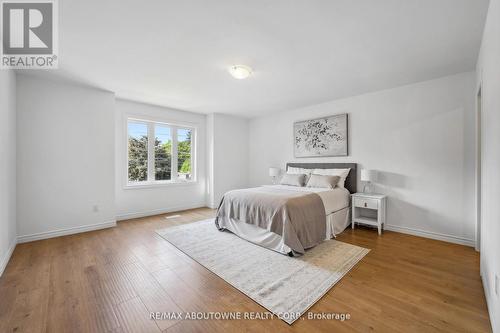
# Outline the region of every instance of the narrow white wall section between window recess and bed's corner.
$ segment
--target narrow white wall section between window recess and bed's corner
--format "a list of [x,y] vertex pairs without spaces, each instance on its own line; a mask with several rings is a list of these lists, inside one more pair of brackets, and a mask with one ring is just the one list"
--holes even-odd
[[248,119],[208,116],[208,206],[216,208],[225,192],[248,187]]

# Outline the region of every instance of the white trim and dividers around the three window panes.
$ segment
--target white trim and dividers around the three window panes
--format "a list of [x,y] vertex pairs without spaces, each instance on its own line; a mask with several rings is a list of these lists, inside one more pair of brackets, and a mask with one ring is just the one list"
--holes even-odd
[[[147,129],[147,172],[142,168],[142,177],[147,175],[146,180],[131,181],[129,178],[129,123],[143,124]],[[169,129],[171,138],[171,161],[170,161],[170,179],[169,180],[156,180],[156,156],[155,147],[157,133],[156,129],[158,127],[166,127]],[[188,130],[190,132],[190,158],[188,173],[180,173],[178,170],[178,144],[179,144],[179,131]],[[134,116],[134,115],[124,115],[123,121],[123,148],[124,148],[124,160],[122,168],[124,169],[124,189],[137,189],[137,188],[154,188],[163,186],[186,186],[193,185],[197,183],[197,126],[189,123],[178,123],[165,121],[158,118]],[[184,141],[186,142],[186,141]],[[188,179],[182,179],[180,175],[187,177]]]

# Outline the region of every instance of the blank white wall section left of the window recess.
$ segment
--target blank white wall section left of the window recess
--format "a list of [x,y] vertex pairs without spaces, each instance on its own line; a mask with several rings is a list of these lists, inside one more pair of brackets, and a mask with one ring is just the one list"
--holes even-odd
[[19,241],[115,224],[114,125],[113,93],[17,76]]

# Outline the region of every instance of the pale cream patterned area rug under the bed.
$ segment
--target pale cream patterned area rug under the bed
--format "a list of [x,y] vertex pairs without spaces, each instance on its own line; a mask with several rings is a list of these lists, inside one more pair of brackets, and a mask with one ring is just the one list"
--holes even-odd
[[369,252],[329,240],[301,257],[291,258],[217,230],[214,219],[157,233],[288,324]]

